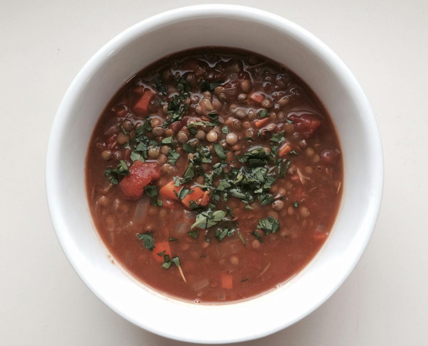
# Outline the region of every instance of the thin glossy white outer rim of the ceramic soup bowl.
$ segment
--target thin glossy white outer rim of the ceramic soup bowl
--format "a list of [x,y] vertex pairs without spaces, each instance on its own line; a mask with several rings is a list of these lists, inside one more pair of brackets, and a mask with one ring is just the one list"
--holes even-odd
[[[56,143],[61,141],[60,133],[64,129],[65,119],[67,118],[67,108],[71,105],[72,100],[75,98],[78,90],[82,87],[83,84],[89,79],[94,70],[103,62],[103,60],[116,49],[120,49],[123,46],[127,45],[137,36],[139,36],[143,32],[148,32],[153,28],[161,27],[164,24],[167,24],[170,21],[178,21],[181,19],[191,19],[198,18],[200,16],[205,16],[208,13],[212,15],[215,12],[218,15],[235,15],[239,16],[243,19],[251,19],[257,21],[262,24],[267,24],[269,26],[274,26],[279,28],[280,30],[286,31],[288,33],[292,33],[295,37],[297,37],[304,44],[311,47],[315,50],[318,56],[321,59],[327,61],[330,65],[335,66],[336,73],[341,75],[343,79],[347,81],[347,86],[352,91],[352,94],[355,98],[355,102],[360,105],[361,111],[360,113],[364,117],[364,131],[368,134],[370,138],[372,138],[372,157],[375,157],[378,164],[379,169],[377,171],[372,172],[373,180],[377,182],[372,191],[372,209],[367,211],[367,226],[365,229],[365,233],[361,237],[360,249],[357,251],[354,256],[353,262],[345,272],[342,273],[341,280],[337,281],[334,285],[330,287],[330,290],[324,295],[322,299],[318,301],[317,304],[314,304],[310,309],[306,311],[302,311],[298,316],[295,316],[294,319],[287,322],[278,322],[270,329],[265,329],[263,331],[254,331],[252,335],[239,336],[235,338],[221,338],[221,336],[217,335],[216,340],[201,340],[199,338],[193,338],[191,335],[186,337],[177,337],[176,335],[169,334],[167,330],[162,328],[151,328],[141,321],[134,319],[131,316],[128,316],[125,312],[120,310],[116,305],[108,300],[101,292],[99,292],[91,283],[89,277],[86,277],[81,269],[79,264],[74,260],[73,251],[68,247],[67,244],[67,230],[62,223],[59,223],[59,211],[56,206],[56,196],[53,193],[53,181],[55,181],[55,170],[51,169],[58,165],[57,162],[57,149]],[[339,134],[340,135],[340,134]],[[46,162],[45,162],[45,185],[46,185],[46,196],[48,201],[48,210],[51,216],[51,222],[53,228],[56,233],[56,237],[59,241],[59,244],[62,247],[62,250],[65,253],[68,261],[73,267],[74,271],[80,277],[80,279],[85,283],[85,285],[101,300],[106,304],[110,309],[115,311],[119,316],[127,319],[132,322],[134,325],[139,326],[140,328],[144,328],[148,331],[151,331],[155,334],[161,335],[163,337],[168,337],[175,340],[193,342],[193,343],[226,343],[226,342],[240,342],[246,340],[253,340],[260,337],[265,337],[269,334],[272,334],[276,331],[279,331],[283,328],[286,328],[295,322],[299,321],[303,317],[312,313],[315,309],[317,309],[321,304],[323,304],[330,296],[336,292],[336,290],[342,285],[342,283],[348,278],[351,272],[354,270],[355,266],[359,262],[361,256],[366,250],[367,244],[372,236],[373,229],[375,227],[375,223],[377,220],[377,216],[380,210],[380,203],[382,199],[383,193],[383,151],[382,144],[380,141],[380,133],[376,123],[375,116],[373,114],[372,108],[369,105],[369,101],[364,94],[360,84],[357,79],[345,65],[345,63],[340,60],[340,58],[320,39],[314,36],[309,31],[303,29],[297,24],[289,21],[288,19],[282,18],[279,15],[272,14],[270,12],[266,12],[260,9],[255,9],[247,6],[239,6],[239,5],[223,5],[223,4],[204,4],[204,5],[195,5],[195,6],[186,6],[180,7],[177,9],[172,9],[166,12],[159,13],[150,18],[147,18],[143,21],[140,21],[137,24],[129,27],[122,33],[119,33],[116,37],[107,42],[101,49],[99,49],[80,69],[74,80],[71,82],[68,87],[65,95],[62,98],[62,101],[59,105],[59,108],[56,112],[55,118],[53,120],[53,124],[51,127],[51,133],[48,140],[48,148],[46,154]]]

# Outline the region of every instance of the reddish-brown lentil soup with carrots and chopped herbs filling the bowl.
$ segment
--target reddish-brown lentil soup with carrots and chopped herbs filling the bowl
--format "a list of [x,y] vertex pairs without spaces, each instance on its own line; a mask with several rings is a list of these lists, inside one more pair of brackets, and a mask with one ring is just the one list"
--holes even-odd
[[86,157],[89,207],[113,256],[196,302],[258,295],[315,256],[342,197],[332,120],[266,57],[201,48],[116,93]]

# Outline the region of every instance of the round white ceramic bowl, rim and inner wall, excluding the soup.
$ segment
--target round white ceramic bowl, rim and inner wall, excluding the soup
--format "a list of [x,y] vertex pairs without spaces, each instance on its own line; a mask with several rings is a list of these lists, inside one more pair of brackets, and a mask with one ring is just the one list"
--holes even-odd
[[[166,54],[206,45],[245,48],[296,72],[333,117],[345,162],[339,215],[315,259],[272,292],[217,306],[166,297],[112,264],[93,227],[83,180],[92,129],[122,84]],[[375,118],[345,64],[296,24],[241,6],[176,9],[142,21],[108,42],[86,63],[65,93],[53,123],[46,159],[53,226],[83,282],[132,323],[165,337],[200,343],[263,337],[297,322],[326,301],[354,269],[367,246],[382,187],[383,157]],[[225,322],[220,323],[221,328],[215,327],[219,321]]]

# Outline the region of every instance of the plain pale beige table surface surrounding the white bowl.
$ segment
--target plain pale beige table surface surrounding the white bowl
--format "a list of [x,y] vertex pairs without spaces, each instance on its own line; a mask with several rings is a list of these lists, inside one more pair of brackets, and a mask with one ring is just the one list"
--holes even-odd
[[[65,90],[98,48],[202,2],[0,1],[0,345],[184,345],[122,319],[74,273],[48,214],[45,151]],[[235,3],[282,15],[336,51],[372,104],[385,154],[382,208],[357,268],[314,313],[243,345],[427,345],[428,2]]]

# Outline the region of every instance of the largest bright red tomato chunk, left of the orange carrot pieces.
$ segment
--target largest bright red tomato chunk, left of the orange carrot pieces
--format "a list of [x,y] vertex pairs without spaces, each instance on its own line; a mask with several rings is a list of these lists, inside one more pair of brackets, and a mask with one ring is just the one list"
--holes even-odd
[[129,175],[125,175],[119,183],[119,187],[125,199],[137,200],[143,195],[143,187],[159,177],[160,165],[158,162],[137,160],[129,167]]

